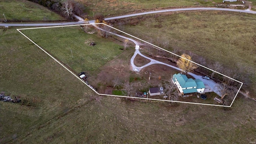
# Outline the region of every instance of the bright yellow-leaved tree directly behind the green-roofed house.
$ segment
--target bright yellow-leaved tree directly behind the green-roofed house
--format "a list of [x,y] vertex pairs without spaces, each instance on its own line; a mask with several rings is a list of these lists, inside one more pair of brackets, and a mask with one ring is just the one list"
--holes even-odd
[[[194,64],[193,62],[190,62],[188,60],[192,60],[191,57],[188,55],[188,54],[182,54],[181,55],[183,58],[180,58],[178,61],[177,61],[177,66],[184,70],[186,75],[188,72],[192,72],[195,68],[197,68],[198,66],[196,64]],[[184,58],[188,59],[188,60],[185,60]]]

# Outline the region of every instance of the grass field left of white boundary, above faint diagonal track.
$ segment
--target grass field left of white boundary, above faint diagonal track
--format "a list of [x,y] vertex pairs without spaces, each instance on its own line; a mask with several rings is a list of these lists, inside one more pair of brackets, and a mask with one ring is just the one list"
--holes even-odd
[[30,103],[0,102],[0,143],[56,118],[94,94],[16,29],[1,29],[0,42],[0,91]]

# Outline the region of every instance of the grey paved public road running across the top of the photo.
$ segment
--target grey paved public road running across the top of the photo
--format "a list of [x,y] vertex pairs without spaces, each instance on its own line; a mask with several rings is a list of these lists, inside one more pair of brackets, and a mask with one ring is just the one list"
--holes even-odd
[[[236,10],[236,9],[229,9],[229,8],[176,8],[176,9],[168,9],[168,10],[156,10],[150,12],[140,12],[137,14],[127,14],[124,16],[114,16],[111,18],[105,18],[105,20],[114,20],[119,18],[127,18],[131,16],[140,16],[145,14],[155,14],[161,12],[175,12],[175,11],[186,11],[186,10],[222,10],[222,11],[230,11],[230,12],[244,12],[249,14],[256,14],[256,11],[252,10]],[[61,23],[38,23],[38,24],[12,24],[12,23],[1,23],[0,26],[61,26],[61,25],[73,25],[73,24],[84,24],[80,18],[78,18],[79,22],[61,22]],[[89,23],[93,23],[94,20],[88,21]]]

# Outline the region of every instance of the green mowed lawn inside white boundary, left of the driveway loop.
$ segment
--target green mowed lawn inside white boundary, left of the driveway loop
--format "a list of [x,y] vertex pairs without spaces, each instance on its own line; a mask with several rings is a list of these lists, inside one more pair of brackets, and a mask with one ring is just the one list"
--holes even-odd
[[[75,72],[94,72],[123,52],[122,46],[97,34],[86,34],[79,26],[22,32]],[[90,46],[90,42],[96,45]]]

